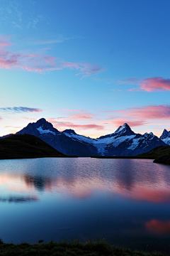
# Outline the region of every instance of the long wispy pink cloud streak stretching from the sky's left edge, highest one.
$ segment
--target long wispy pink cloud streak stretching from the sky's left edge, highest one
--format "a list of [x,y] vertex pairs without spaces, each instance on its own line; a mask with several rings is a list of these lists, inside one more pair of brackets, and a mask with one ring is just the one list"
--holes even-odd
[[62,70],[69,68],[72,70],[79,70],[82,78],[89,77],[98,72],[103,71],[103,68],[84,62],[67,62],[58,60],[52,56],[45,56],[42,54],[19,54],[6,50],[11,43],[8,42],[8,37],[0,38],[0,68],[1,69],[18,69],[27,70],[29,72],[45,73],[52,70]]

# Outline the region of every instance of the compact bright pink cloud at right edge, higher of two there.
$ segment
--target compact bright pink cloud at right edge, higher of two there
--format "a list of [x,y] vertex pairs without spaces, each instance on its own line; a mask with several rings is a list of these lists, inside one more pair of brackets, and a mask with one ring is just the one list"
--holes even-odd
[[155,78],[125,78],[118,80],[119,84],[137,85],[129,91],[143,90],[145,92],[157,92],[170,90],[170,79]]

